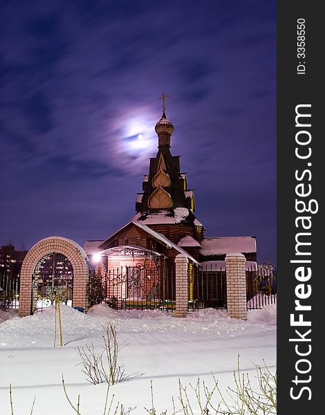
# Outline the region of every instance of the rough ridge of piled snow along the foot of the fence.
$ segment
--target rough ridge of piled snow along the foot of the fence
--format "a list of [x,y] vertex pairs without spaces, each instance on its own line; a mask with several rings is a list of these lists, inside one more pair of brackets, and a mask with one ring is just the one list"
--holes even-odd
[[[116,311],[104,304],[93,306],[86,314],[69,306],[61,306],[63,341],[64,344],[70,344],[88,338],[100,338],[102,326],[108,321],[114,322],[119,333],[126,334],[205,333],[233,338],[250,331],[263,333],[275,330],[276,310],[276,306],[265,306],[262,310],[248,311],[248,321],[243,321],[232,319],[224,311],[214,308],[193,311],[186,318],[176,318],[175,313],[160,310]],[[58,320],[56,333],[58,339]],[[43,313],[13,318],[0,324],[0,347],[53,347],[54,337],[53,307],[47,308]]]

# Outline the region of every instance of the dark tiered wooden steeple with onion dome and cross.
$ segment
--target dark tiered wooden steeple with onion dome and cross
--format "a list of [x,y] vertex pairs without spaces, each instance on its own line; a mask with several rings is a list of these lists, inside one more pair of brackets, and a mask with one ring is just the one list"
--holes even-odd
[[[136,215],[132,221],[148,225],[174,243],[184,237],[200,242],[204,228],[194,215],[194,192],[187,188],[186,173],[180,171],[180,156],[172,156],[170,151],[174,125],[166,117],[165,98],[167,95],[163,93],[163,116],[155,126],[158,151],[156,157],[150,158],[149,174],[142,181],[142,192],[138,193]],[[198,242],[197,246],[188,248],[197,259],[201,247]]]

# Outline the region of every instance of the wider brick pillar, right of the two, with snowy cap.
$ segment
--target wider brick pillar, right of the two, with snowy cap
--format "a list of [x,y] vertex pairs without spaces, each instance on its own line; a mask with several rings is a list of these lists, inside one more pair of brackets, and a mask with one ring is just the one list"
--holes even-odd
[[247,320],[246,259],[240,253],[225,257],[227,275],[227,311],[232,318]]

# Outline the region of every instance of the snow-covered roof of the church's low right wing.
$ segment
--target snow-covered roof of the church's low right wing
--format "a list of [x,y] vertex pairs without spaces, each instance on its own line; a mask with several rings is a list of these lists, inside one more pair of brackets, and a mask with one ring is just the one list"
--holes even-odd
[[230,252],[256,252],[254,237],[205,238],[201,242],[202,255],[220,255]]

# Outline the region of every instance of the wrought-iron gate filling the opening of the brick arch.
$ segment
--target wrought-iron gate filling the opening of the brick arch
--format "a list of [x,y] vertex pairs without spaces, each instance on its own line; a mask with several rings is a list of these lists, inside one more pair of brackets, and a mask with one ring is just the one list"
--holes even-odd
[[55,302],[72,306],[73,266],[68,258],[53,252],[39,259],[32,275],[32,314]]

